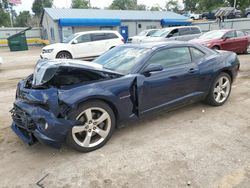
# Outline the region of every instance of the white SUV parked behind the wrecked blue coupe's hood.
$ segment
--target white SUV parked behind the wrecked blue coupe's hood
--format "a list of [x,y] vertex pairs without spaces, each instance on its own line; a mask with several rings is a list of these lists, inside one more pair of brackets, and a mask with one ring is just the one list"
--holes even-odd
[[62,43],[51,44],[42,49],[42,59],[94,58],[107,50],[124,44],[117,31],[87,31],[75,33]]

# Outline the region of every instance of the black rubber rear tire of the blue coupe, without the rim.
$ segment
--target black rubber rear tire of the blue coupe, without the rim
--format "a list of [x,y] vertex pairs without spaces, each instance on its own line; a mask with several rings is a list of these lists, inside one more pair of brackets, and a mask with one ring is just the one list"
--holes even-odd
[[[215,100],[215,96],[214,96],[214,88],[216,87],[216,83],[218,82],[218,80],[220,79],[220,78],[222,78],[222,77],[227,77],[228,78],[228,80],[229,80],[229,93],[228,93],[228,96],[227,96],[227,98],[223,101],[223,102],[217,102],[216,100]],[[211,87],[210,87],[210,91],[209,91],[209,93],[208,93],[208,95],[207,95],[207,97],[206,97],[206,99],[205,99],[205,103],[207,103],[207,104],[209,104],[209,105],[212,105],[212,106],[222,106],[227,100],[228,100],[228,98],[229,98],[229,96],[230,96],[230,93],[231,93],[231,86],[232,86],[232,79],[231,79],[231,77],[227,74],[227,73],[225,73],[225,72],[222,72],[222,73],[220,73],[215,79],[214,79],[214,81],[213,81],[213,83],[212,83],[212,85],[211,85]]]

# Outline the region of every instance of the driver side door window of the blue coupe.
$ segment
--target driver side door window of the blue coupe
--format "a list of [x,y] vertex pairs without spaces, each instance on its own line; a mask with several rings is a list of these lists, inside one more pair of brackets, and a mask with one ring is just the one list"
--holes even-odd
[[149,64],[159,64],[164,68],[190,62],[191,56],[188,47],[176,47],[158,51],[148,61]]

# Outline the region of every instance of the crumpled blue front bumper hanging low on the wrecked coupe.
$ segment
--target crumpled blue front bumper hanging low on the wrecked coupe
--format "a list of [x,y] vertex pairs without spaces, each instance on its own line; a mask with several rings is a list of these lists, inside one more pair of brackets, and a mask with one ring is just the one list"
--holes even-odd
[[12,130],[29,145],[39,141],[60,148],[76,121],[57,118],[53,113],[36,105],[16,100],[11,110]]

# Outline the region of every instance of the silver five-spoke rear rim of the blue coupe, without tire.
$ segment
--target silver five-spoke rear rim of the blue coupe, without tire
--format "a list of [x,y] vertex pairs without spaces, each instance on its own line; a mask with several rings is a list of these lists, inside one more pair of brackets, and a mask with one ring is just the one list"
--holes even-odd
[[217,103],[223,103],[229,96],[231,83],[228,77],[220,77],[215,84],[213,96]]

